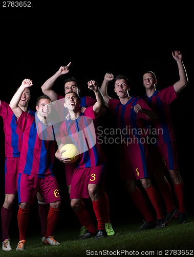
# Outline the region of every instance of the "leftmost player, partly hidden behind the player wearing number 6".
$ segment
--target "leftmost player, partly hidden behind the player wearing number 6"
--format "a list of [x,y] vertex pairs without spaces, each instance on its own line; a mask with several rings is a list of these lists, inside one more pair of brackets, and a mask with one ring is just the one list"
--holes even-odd
[[[18,106],[31,115],[35,112],[28,108],[30,100],[30,88],[25,88],[21,94]],[[23,142],[23,133],[19,127],[16,126],[16,117],[13,114],[9,104],[0,100],[0,115],[3,118],[4,133],[5,133],[5,200],[1,210],[2,219],[2,249],[4,251],[11,251],[9,226],[12,217],[12,208],[17,194],[17,176],[19,156],[21,144]],[[47,214],[48,208],[45,205],[45,200],[37,193],[38,198],[38,212],[41,223],[41,237],[46,234]]]

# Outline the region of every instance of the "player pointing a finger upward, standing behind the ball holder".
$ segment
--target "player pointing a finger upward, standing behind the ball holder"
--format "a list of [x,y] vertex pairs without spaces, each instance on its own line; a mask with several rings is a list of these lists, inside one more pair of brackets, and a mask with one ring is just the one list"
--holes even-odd
[[[59,68],[59,70],[41,86],[42,92],[44,94],[48,95],[51,98],[52,102],[54,103],[55,109],[57,110],[57,113],[59,114],[61,121],[68,118],[69,111],[67,108],[63,108],[64,96],[58,95],[52,89],[52,87],[54,86],[56,80],[60,76],[65,75],[69,72],[70,65],[71,65],[71,62],[67,66],[61,66]],[[64,94],[67,94],[69,91],[74,91],[79,96],[80,87],[78,86],[78,81],[75,77],[69,77],[64,80]],[[81,111],[83,111],[85,107],[93,106],[95,103],[96,103],[96,100],[90,96],[80,97],[80,106],[82,107]],[[105,113],[106,113],[106,109],[103,106],[100,115],[103,115]],[[95,121],[95,122],[97,122],[97,121]],[[68,186],[69,193],[71,190],[71,180],[72,180],[72,176],[73,176],[74,167],[75,167],[75,164],[73,164],[73,163],[71,165],[65,164],[66,183]],[[104,206],[107,207],[107,210],[109,212],[109,197],[107,196],[107,194],[105,192],[104,192],[102,200],[104,201]],[[107,220],[105,220],[105,229],[106,229],[108,236],[115,234],[115,231],[113,230],[109,216],[107,217]],[[84,234],[86,231],[87,231],[87,228],[82,226],[79,235]]]

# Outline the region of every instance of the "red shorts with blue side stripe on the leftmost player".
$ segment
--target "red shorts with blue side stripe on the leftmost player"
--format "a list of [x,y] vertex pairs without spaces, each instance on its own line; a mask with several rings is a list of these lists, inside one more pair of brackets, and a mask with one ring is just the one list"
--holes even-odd
[[9,157],[5,161],[5,194],[17,194],[19,157]]

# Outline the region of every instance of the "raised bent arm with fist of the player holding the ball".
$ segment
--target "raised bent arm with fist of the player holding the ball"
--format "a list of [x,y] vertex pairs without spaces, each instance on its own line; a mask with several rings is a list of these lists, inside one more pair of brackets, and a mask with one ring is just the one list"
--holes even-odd
[[96,103],[93,105],[93,110],[94,112],[99,113],[104,105],[104,97],[100,91],[100,88],[98,87],[98,83],[95,80],[90,80],[88,82],[88,88],[93,90],[95,93]]

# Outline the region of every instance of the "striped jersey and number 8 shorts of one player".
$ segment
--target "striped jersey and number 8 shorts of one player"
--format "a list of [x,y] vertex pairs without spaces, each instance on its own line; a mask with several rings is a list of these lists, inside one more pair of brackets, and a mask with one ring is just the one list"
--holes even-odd
[[133,106],[140,104],[143,109],[152,111],[148,105],[138,97],[132,97],[126,104],[120,100],[110,99],[109,108],[116,115],[118,127],[121,131],[120,171],[122,180],[139,180],[149,177],[149,151],[145,138],[147,132],[147,116],[136,113]]

